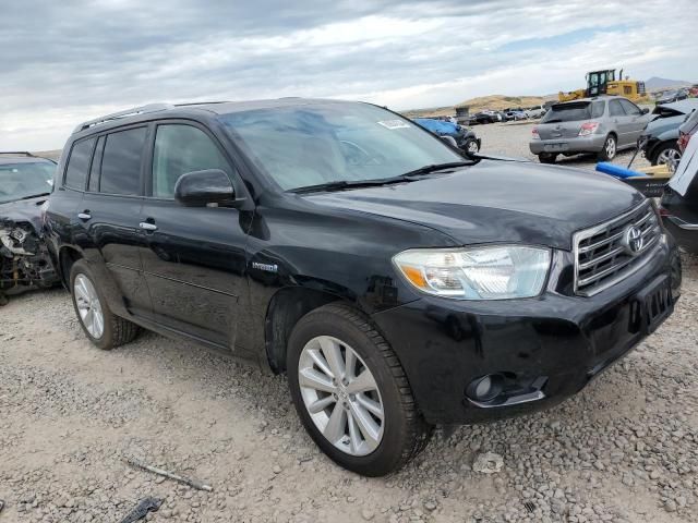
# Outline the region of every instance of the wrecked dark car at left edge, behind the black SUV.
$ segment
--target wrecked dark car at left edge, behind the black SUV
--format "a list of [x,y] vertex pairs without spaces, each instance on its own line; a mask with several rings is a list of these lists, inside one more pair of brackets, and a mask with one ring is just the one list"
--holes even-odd
[[43,209],[56,162],[0,153],[0,305],[7,296],[59,282],[43,234]]

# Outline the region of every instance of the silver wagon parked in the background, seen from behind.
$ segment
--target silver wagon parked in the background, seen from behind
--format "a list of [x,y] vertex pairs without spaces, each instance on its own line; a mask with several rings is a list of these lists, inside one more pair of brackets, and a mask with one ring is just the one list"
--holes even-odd
[[618,150],[635,147],[650,121],[640,109],[621,96],[603,96],[551,106],[533,127],[529,144],[541,163],[554,163],[557,155],[595,153],[602,161]]

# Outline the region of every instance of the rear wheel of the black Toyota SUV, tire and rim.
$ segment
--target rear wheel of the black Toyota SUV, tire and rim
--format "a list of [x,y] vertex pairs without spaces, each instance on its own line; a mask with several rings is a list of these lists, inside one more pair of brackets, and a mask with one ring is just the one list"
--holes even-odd
[[[99,349],[109,351],[133,341],[140,327],[116,316],[107,304],[89,266],[84,259],[75,262],[70,270],[73,308],[85,336]],[[95,318],[101,317],[101,320]]]

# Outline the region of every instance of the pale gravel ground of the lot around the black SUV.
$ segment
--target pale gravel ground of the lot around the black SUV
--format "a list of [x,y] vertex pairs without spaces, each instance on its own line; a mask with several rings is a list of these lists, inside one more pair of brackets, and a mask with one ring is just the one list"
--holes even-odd
[[[477,130],[483,150],[526,156],[510,144],[530,125]],[[0,311],[0,523],[119,522],[147,496],[165,500],[153,521],[696,521],[698,259],[684,262],[674,315],[580,394],[438,429],[377,479],[320,453],[284,378],[153,333],[99,351],[64,291],[13,297]]]

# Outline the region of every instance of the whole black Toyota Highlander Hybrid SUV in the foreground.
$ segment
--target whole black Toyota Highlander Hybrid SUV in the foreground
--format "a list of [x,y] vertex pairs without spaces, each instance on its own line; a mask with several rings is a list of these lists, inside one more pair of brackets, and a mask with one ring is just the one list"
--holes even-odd
[[80,125],[47,211],[86,336],[139,327],[288,375],[337,463],[550,406],[673,311],[655,208],[604,174],[466,159],[372,105],[146,106]]

